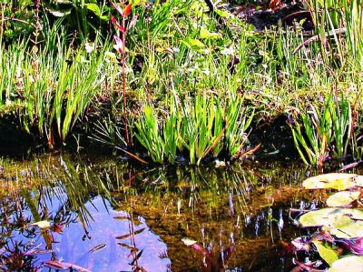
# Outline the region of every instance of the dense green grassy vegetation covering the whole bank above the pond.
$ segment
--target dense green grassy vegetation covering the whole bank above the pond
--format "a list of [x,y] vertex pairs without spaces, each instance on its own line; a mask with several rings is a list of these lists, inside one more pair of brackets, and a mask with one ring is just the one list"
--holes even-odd
[[[268,4],[293,5],[253,5]],[[302,18],[256,31],[241,17],[263,12],[227,3],[6,2],[1,115],[48,146],[86,132],[141,162],[197,165],[251,156],[256,128],[284,116],[306,164],[358,161],[362,4],[297,5]]]

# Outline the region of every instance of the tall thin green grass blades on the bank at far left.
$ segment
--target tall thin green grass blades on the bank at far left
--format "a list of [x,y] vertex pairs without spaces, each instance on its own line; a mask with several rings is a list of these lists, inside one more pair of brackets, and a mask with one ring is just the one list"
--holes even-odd
[[37,127],[49,145],[54,143],[54,128],[65,140],[104,78],[104,50],[86,53],[65,44],[61,34],[57,35],[57,47],[44,45],[37,51],[37,47],[10,46],[1,53],[1,102],[19,105],[25,130]]

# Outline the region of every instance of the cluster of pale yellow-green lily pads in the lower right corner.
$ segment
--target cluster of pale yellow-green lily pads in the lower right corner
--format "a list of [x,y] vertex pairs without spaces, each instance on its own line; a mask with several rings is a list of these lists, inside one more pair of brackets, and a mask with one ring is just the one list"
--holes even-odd
[[[309,177],[303,181],[303,186],[307,189],[334,188],[338,193],[329,196],[328,207],[308,211],[299,217],[301,227],[319,227],[320,230],[304,239],[294,239],[294,250],[317,252],[328,264],[330,272],[344,271],[347,267],[352,271],[360,270],[363,265],[363,212],[359,207],[363,176],[330,173]],[[323,271],[319,269],[323,268],[321,264],[313,260],[309,263],[297,260],[296,264],[304,269],[317,264],[314,271]]]

